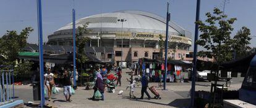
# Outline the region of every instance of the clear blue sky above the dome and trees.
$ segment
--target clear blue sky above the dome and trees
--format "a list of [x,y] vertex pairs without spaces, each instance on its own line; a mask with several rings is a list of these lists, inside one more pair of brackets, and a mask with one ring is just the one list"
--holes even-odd
[[[42,0],[43,10],[43,40],[47,36],[72,21],[72,0]],[[97,13],[117,10],[144,10],[166,17],[167,0],[75,0],[76,19]],[[226,4],[225,13],[228,17],[236,17],[233,35],[242,26],[251,30],[256,36],[256,4],[255,0],[230,0]],[[205,13],[212,12],[214,7],[223,7],[223,0],[201,0],[200,20],[205,20]],[[194,40],[196,0],[171,0],[171,20],[188,29]],[[17,30],[31,26],[34,31],[28,42],[38,43],[36,0],[1,0],[0,1],[0,36],[6,30]],[[256,47],[256,37],[251,41],[251,47]]]

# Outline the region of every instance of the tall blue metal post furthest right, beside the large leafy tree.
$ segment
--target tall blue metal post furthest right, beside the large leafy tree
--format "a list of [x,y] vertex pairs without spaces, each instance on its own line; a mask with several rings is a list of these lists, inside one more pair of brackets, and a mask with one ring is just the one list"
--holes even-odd
[[[195,21],[199,21],[200,16],[200,0],[197,0],[197,13]],[[194,40],[194,54],[193,54],[193,72],[192,72],[192,87],[190,92],[190,107],[194,107],[195,101],[195,75],[197,75],[197,42],[198,39],[198,24],[195,24],[195,40]]]

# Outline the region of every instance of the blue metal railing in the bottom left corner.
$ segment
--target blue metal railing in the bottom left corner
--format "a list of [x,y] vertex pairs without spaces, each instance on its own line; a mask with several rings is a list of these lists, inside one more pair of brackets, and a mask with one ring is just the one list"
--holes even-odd
[[0,106],[14,101],[14,70],[12,66],[0,66]]

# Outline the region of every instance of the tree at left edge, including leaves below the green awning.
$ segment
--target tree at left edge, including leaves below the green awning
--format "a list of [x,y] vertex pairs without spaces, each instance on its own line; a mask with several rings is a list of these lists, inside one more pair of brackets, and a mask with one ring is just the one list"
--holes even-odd
[[[27,45],[27,38],[33,31],[31,27],[22,29],[20,34],[17,31],[7,31],[4,36],[0,38],[0,64],[15,66],[15,61],[19,56],[21,48]],[[14,75],[29,74],[32,62],[24,61],[14,67]]]

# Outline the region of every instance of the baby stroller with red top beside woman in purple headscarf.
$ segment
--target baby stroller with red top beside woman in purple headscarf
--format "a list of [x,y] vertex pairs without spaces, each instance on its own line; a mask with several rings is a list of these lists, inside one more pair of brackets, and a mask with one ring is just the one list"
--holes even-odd
[[114,82],[117,80],[117,77],[113,74],[110,74],[107,76],[106,79],[106,85],[108,85],[108,92],[114,93],[114,89],[116,88],[116,85],[114,85]]

